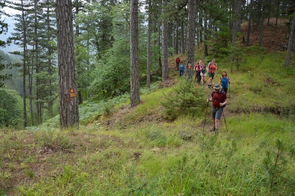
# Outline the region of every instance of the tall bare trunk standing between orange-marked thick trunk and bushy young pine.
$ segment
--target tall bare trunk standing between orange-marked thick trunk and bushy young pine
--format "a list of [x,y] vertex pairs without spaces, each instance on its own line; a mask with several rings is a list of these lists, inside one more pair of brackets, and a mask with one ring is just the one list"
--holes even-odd
[[138,60],[138,0],[130,1],[130,106],[140,102]]

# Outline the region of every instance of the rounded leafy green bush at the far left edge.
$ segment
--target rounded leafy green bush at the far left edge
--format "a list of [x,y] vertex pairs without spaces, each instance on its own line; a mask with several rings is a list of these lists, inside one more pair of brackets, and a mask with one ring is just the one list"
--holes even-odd
[[21,121],[20,112],[16,92],[0,88],[0,125],[16,126]]

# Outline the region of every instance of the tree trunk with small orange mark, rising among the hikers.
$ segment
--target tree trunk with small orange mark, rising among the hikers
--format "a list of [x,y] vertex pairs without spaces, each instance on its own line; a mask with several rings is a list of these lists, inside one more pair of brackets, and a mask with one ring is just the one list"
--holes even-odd
[[[193,78],[195,56],[195,25],[196,25],[196,0],[188,0],[188,24],[186,41],[186,68],[189,79]],[[191,67],[189,68],[189,63]]]

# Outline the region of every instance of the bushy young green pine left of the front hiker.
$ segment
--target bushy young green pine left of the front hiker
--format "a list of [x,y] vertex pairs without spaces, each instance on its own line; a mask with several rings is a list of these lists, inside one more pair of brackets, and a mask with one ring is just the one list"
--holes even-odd
[[169,120],[175,120],[180,115],[200,115],[205,107],[204,88],[195,86],[192,80],[180,79],[169,95],[164,94],[161,101],[164,114]]

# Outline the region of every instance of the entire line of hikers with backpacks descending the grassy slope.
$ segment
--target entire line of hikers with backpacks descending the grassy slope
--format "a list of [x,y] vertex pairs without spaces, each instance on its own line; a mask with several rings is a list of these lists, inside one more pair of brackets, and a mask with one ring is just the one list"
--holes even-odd
[[[228,101],[227,91],[228,91],[229,85],[230,85],[230,77],[227,75],[226,72],[222,72],[222,75],[220,77],[220,81],[217,84],[215,84],[214,87],[211,87],[212,80],[215,76],[215,71],[219,70],[217,68],[215,61],[216,61],[215,58],[213,58],[212,61],[208,63],[208,66],[206,66],[205,61],[200,60],[193,67],[193,71],[195,73],[194,74],[195,81],[198,84],[202,84],[202,85],[205,84],[206,75],[208,73],[209,78],[207,81],[207,86],[208,86],[208,88],[214,89],[210,94],[210,98],[207,99],[207,107],[208,107],[208,103],[212,101],[211,115],[212,115],[212,119],[213,119],[213,127],[210,129],[210,131],[218,132],[218,130],[220,128],[219,122],[220,122],[221,116],[223,114],[223,108],[226,106],[227,101]],[[177,62],[178,62],[178,64],[177,64]],[[179,76],[183,75],[185,66],[182,62],[180,62],[179,56],[176,59],[176,66],[177,66],[177,69],[179,69]],[[190,66],[188,66],[187,68],[190,69]],[[206,116],[207,116],[207,110],[206,110]],[[206,122],[206,116],[205,116],[205,122]],[[223,117],[224,117],[224,114],[223,114]],[[205,128],[205,122],[204,122],[204,128]],[[224,122],[225,122],[225,117],[224,117]]]

